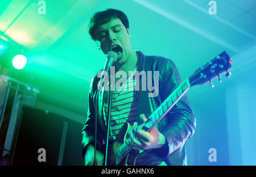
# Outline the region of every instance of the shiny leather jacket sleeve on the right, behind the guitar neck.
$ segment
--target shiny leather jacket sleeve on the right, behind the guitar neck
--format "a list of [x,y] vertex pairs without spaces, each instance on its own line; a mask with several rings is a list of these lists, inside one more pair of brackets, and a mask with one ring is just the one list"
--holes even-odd
[[[159,78],[159,95],[162,101],[181,83],[179,72],[172,60],[166,60],[163,67],[162,77]],[[183,146],[195,132],[196,119],[186,95],[172,107],[166,117],[167,124],[161,132],[168,142],[168,154],[166,155],[170,155]]]

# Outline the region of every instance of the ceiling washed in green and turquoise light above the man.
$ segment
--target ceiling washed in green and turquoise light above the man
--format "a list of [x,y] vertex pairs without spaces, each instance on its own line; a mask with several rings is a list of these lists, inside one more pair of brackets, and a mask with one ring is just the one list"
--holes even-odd
[[9,75],[38,87],[40,100],[78,113],[86,112],[90,80],[105,64],[87,33],[98,10],[125,12],[133,49],[170,57],[182,79],[223,50],[236,56],[256,41],[255,0],[216,0],[213,15],[208,0],[45,0],[46,14],[41,2],[0,1],[0,37],[13,48],[8,54],[28,60]]

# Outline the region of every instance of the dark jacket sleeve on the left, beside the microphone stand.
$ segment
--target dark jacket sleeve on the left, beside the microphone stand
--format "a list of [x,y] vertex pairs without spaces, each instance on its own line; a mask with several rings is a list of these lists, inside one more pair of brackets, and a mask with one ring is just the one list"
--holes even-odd
[[[94,108],[94,99],[93,99],[93,88],[95,83],[93,82],[94,78],[92,79],[92,82],[90,83],[90,89],[89,89],[89,96],[88,96],[88,112],[87,117],[85,120],[85,125],[82,128],[82,157],[84,158],[86,145],[92,144],[94,146],[95,142],[95,108]],[[98,136],[99,133],[97,133],[97,149],[101,149],[100,136]]]

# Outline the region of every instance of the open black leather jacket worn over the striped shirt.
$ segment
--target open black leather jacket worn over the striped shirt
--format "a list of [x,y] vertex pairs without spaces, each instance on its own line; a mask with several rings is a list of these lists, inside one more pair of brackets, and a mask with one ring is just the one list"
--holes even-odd
[[[149,117],[154,110],[180,85],[179,72],[172,60],[162,56],[146,56],[137,51],[139,58],[138,71],[159,71],[158,96],[148,97],[148,91],[137,91],[138,111],[137,122],[141,124],[139,115],[144,113]],[[97,149],[101,150],[102,142],[106,134],[104,120],[100,119],[102,105],[98,100],[99,92],[97,83],[100,78],[94,77],[89,90],[89,108],[84,128],[82,129],[82,155],[85,154],[85,146],[94,145],[97,117]],[[154,80],[154,77],[152,77]],[[152,81],[154,83],[154,81]],[[166,154],[168,165],[187,165],[185,141],[193,135],[196,127],[196,119],[193,116],[187,96],[184,95],[179,102],[163,117],[156,128],[166,137],[169,145],[169,153]]]

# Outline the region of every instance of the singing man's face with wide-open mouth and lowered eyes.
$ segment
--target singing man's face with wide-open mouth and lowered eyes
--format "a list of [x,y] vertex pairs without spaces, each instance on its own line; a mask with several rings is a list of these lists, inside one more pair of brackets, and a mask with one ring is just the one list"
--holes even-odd
[[110,22],[102,24],[96,29],[96,39],[101,50],[107,54],[114,51],[118,55],[116,63],[123,64],[130,57],[131,49],[130,32],[122,21],[112,18]]

